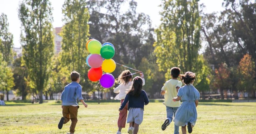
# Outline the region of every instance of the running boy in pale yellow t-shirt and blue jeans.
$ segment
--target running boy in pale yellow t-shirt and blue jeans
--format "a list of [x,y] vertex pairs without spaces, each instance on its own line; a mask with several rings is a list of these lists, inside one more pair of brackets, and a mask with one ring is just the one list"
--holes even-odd
[[[164,121],[162,125],[162,130],[164,131],[166,127],[172,122],[172,116],[175,117],[175,113],[179,106],[181,106],[181,102],[172,101],[172,98],[177,97],[178,90],[182,86],[182,82],[178,81],[177,78],[181,69],[178,67],[171,68],[171,77],[172,79],[165,82],[164,86],[161,89],[161,95],[164,95],[163,104],[166,106],[167,119]],[[174,134],[179,134],[179,126],[174,125]]]

